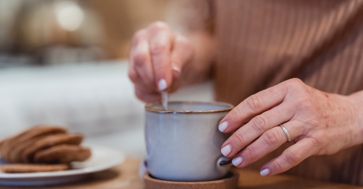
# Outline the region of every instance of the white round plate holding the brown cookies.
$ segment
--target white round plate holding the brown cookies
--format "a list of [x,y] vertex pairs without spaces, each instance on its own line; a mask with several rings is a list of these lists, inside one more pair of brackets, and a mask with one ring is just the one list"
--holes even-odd
[[[91,157],[83,162],[71,163],[72,169],[70,170],[38,173],[3,173],[0,171],[0,185],[35,186],[74,182],[84,179],[89,173],[109,169],[125,160],[125,155],[114,148],[94,145],[88,147],[91,148]],[[0,164],[5,164],[1,158]]]

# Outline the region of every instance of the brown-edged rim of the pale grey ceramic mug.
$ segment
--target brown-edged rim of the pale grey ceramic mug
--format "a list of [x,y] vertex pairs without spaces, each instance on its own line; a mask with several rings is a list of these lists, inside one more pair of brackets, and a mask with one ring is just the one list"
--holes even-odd
[[234,106],[227,102],[201,102],[201,101],[170,101],[169,104],[204,104],[204,105],[215,105],[215,106],[227,106],[228,108],[219,109],[219,110],[161,110],[152,108],[155,105],[161,105],[161,102],[151,102],[145,105],[145,110],[148,112],[158,112],[158,113],[216,113],[216,112],[229,112]]

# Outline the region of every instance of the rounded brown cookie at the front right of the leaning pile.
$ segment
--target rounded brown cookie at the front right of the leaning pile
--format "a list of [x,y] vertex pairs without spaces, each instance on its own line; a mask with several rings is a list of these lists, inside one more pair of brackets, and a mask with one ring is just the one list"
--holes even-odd
[[86,147],[61,144],[38,151],[34,154],[36,163],[70,163],[84,161],[91,156],[91,150]]

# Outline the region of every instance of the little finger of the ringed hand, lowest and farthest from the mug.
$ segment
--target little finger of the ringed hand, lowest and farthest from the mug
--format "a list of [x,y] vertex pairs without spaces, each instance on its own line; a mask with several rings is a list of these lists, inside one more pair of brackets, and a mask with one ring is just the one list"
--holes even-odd
[[288,147],[280,156],[270,160],[261,167],[261,175],[276,175],[285,172],[306,158],[316,154],[317,148],[314,145],[314,139],[304,138],[296,144]]

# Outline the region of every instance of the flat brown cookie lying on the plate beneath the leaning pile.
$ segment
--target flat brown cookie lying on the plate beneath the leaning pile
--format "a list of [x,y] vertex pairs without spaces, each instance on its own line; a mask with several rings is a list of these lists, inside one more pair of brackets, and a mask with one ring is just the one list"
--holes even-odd
[[0,169],[4,173],[31,173],[31,172],[48,172],[48,171],[63,171],[69,169],[68,164],[7,164],[1,165]]

